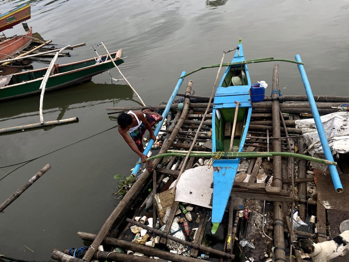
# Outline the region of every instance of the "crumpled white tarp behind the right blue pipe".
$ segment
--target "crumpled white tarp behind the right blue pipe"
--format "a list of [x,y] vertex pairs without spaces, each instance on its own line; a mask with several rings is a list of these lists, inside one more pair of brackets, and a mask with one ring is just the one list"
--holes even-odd
[[[349,112],[335,112],[320,118],[332,154],[349,152]],[[313,157],[324,158],[324,151],[322,150],[314,119],[302,119],[295,122],[296,127],[302,130],[305,143],[308,146],[308,152]],[[324,169],[325,167],[319,163],[311,163],[317,168]]]

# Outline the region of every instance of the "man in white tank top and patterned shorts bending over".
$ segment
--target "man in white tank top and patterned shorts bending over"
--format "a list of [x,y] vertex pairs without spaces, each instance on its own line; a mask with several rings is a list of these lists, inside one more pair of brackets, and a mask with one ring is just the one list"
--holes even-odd
[[[162,120],[162,116],[155,112],[154,108],[143,109],[142,112],[139,111],[128,111],[127,114],[122,112],[118,116],[118,130],[121,136],[124,138],[126,143],[131,149],[140,156],[142,163],[147,162],[147,156],[143,154],[144,148],[142,139],[146,130],[149,131],[150,138],[154,141],[156,137],[154,135],[153,129],[151,127]],[[131,138],[127,135],[129,131]],[[148,161],[147,169],[149,172],[154,171],[153,163]]]

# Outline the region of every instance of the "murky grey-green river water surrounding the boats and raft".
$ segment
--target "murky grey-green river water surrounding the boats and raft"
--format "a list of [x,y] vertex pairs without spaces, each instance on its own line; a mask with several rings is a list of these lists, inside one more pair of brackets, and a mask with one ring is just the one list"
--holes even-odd
[[[238,38],[246,59],[294,59],[299,53],[314,94],[349,95],[348,0],[30,2],[32,18],[27,22],[33,32],[56,46],[86,42],[58,63],[95,56],[91,45],[101,41],[110,52],[122,48],[129,58],[120,69],[146,104],[167,101],[182,71],[219,63],[222,51],[237,46]],[[3,0],[0,12],[20,3]],[[23,32],[17,25],[5,34]],[[232,56],[227,54],[225,62]],[[267,94],[273,65],[249,65],[252,82],[269,83]],[[116,69],[110,72],[121,78]],[[216,72],[192,75],[180,92],[192,79],[196,94],[209,95]],[[118,203],[111,194],[117,187],[113,176],[129,175],[138,159],[116,129],[105,131],[116,125],[106,107],[138,105],[125,82],[117,83],[103,73],[84,85],[45,94],[45,121],[79,117],[79,123],[0,136],[0,167],[45,155],[23,166],[0,168],[0,202],[47,163],[52,166],[0,214],[0,254],[49,261],[53,248],[82,246],[76,232],[98,232],[112,212]],[[295,64],[280,62],[280,89],[305,94]],[[0,102],[0,128],[39,122],[38,108],[39,95]]]

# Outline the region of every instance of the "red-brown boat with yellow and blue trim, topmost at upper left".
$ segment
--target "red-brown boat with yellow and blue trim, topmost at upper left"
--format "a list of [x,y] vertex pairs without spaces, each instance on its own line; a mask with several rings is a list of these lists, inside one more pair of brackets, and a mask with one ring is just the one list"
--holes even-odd
[[24,3],[6,13],[0,14],[0,32],[30,19],[30,4]]

